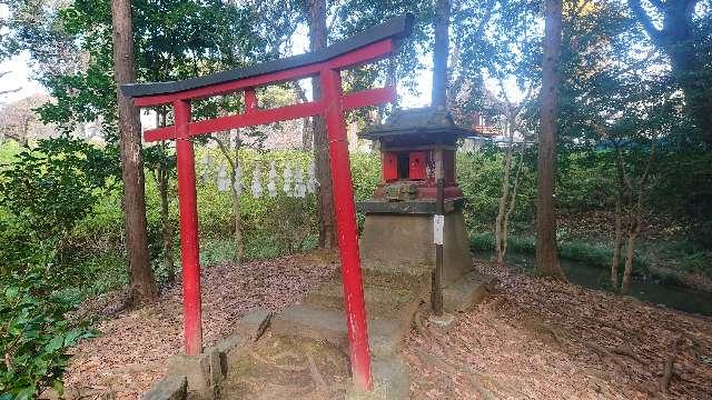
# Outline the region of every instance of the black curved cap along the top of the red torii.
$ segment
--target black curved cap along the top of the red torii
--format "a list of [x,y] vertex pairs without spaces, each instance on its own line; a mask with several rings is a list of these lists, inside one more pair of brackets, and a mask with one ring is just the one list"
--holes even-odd
[[170,94],[185,90],[204,88],[212,84],[320,63],[385,39],[405,38],[411,34],[412,27],[413,16],[404,14],[369,28],[365,32],[338,41],[322,51],[313,51],[181,81],[122,84],[121,91],[123,94],[134,98],[142,96]]

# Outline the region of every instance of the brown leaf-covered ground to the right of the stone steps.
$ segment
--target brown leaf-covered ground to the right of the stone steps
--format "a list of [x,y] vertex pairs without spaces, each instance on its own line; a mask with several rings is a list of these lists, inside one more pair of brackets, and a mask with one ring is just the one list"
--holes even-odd
[[415,398],[712,399],[712,320],[477,268],[496,293],[448,331],[425,322],[408,339]]

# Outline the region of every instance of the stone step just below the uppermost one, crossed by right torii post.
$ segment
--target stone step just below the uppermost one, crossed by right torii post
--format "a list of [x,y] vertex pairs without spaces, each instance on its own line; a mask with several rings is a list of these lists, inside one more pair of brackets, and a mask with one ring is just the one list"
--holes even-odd
[[[326,340],[348,352],[346,316],[343,311],[319,309],[307,304],[294,304],[274,316],[275,334]],[[387,319],[368,320],[368,342],[374,358],[388,358],[400,351],[405,328]]]

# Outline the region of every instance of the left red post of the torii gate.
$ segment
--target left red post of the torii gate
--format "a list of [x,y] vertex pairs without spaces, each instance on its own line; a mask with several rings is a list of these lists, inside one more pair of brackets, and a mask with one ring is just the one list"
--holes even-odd
[[178,202],[180,208],[180,259],[182,264],[182,308],[186,354],[202,352],[200,306],[200,263],[198,250],[198,201],[196,161],[188,132],[190,103],[174,103],[176,120],[176,163],[178,169]]

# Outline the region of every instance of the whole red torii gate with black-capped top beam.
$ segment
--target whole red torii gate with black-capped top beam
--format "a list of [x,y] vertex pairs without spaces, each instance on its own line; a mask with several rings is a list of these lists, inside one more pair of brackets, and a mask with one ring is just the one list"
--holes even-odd
[[[411,16],[398,17],[334,43],[323,51],[182,81],[134,83],[121,87],[123,94],[132,98],[137,107],[166,103],[172,103],[174,107],[175,124],[147,130],[144,132],[144,139],[147,142],[176,140],[186,354],[197,356],[202,352],[196,171],[190,138],[228,129],[323,116],[329,143],[352,371],[357,389],[372,389],[370,351],[344,112],[393,101],[396,98],[396,90],[392,86],[386,86],[343,93],[340,71],[393,54],[399,39],[409,34],[412,21]],[[320,99],[276,109],[257,107],[255,88],[310,77],[318,77],[320,80]],[[191,120],[191,100],[236,91],[244,91],[244,113],[204,121]]]

